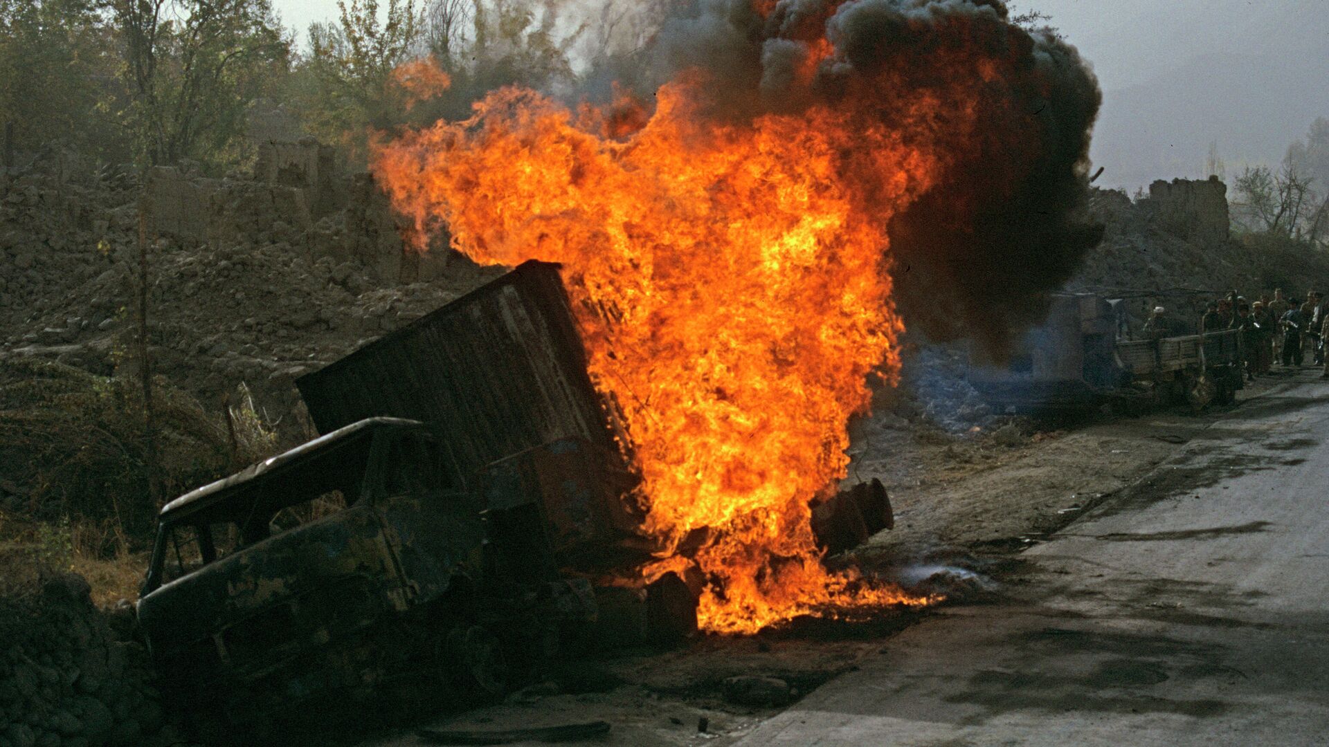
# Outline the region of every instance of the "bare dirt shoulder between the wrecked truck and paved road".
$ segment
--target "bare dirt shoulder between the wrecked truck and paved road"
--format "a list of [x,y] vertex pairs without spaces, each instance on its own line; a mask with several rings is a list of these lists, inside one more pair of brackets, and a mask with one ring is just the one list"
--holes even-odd
[[[1273,380],[1256,383],[1240,397]],[[1225,409],[1197,416],[1176,409],[1140,417],[1010,419],[995,431],[961,433],[877,415],[856,425],[849,477],[886,484],[896,529],[876,536],[849,560],[901,584],[982,603],[1003,584],[1002,568],[1017,553],[1139,481]],[[610,732],[590,743],[732,744],[788,702],[734,702],[726,698],[727,678],[783,679],[791,689],[788,700],[797,700],[832,677],[856,670],[886,638],[928,614],[804,619],[748,638],[702,635],[664,653],[586,655],[504,703],[451,714],[441,704],[439,715],[416,728],[508,730],[605,720]],[[413,728],[396,728],[355,743],[427,742]]]

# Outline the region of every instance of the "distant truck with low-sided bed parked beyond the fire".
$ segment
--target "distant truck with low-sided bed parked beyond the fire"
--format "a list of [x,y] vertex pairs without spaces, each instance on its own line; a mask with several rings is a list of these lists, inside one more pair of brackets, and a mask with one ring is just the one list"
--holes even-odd
[[1058,294],[1043,324],[1029,330],[1005,362],[969,356],[969,383],[997,408],[1084,409],[1104,403],[1231,403],[1243,388],[1236,330],[1131,339],[1116,299]]

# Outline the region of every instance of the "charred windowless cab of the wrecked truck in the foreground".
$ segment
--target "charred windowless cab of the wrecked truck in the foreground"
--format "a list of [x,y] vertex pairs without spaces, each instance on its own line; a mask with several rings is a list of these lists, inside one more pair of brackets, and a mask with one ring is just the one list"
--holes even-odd
[[[225,707],[254,716],[331,689],[372,689],[404,659],[469,646],[431,666],[501,690],[496,637],[472,630],[484,625],[477,606],[496,609],[476,599],[498,570],[481,501],[435,428],[396,417],[347,425],[171,501],[138,601],[158,671],[170,690],[234,694]],[[589,587],[546,568],[506,598],[544,605],[549,619],[593,617],[593,602],[575,603]],[[416,634],[395,633],[401,625]],[[392,642],[379,645],[384,634]]]

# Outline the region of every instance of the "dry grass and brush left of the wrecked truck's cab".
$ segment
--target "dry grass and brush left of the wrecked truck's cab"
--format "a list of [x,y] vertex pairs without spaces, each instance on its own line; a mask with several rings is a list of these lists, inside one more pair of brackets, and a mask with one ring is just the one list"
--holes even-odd
[[[149,440],[136,381],[52,362],[0,359],[0,475],[25,514],[47,522],[114,520],[142,546],[158,505],[148,485]],[[271,428],[239,392],[229,419],[159,379],[153,452],[163,498],[266,459]],[[112,548],[101,546],[98,553]]]

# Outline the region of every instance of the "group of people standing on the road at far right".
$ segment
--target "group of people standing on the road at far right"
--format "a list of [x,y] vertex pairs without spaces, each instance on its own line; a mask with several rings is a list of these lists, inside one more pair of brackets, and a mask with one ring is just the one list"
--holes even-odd
[[1292,367],[1302,366],[1309,356],[1316,366],[1325,367],[1320,377],[1329,379],[1324,350],[1329,339],[1329,300],[1320,291],[1306,291],[1302,299],[1284,298],[1278,288],[1272,299],[1260,296],[1256,302],[1232,291],[1209,302],[1200,328],[1241,331],[1248,377],[1268,374],[1275,360]]

